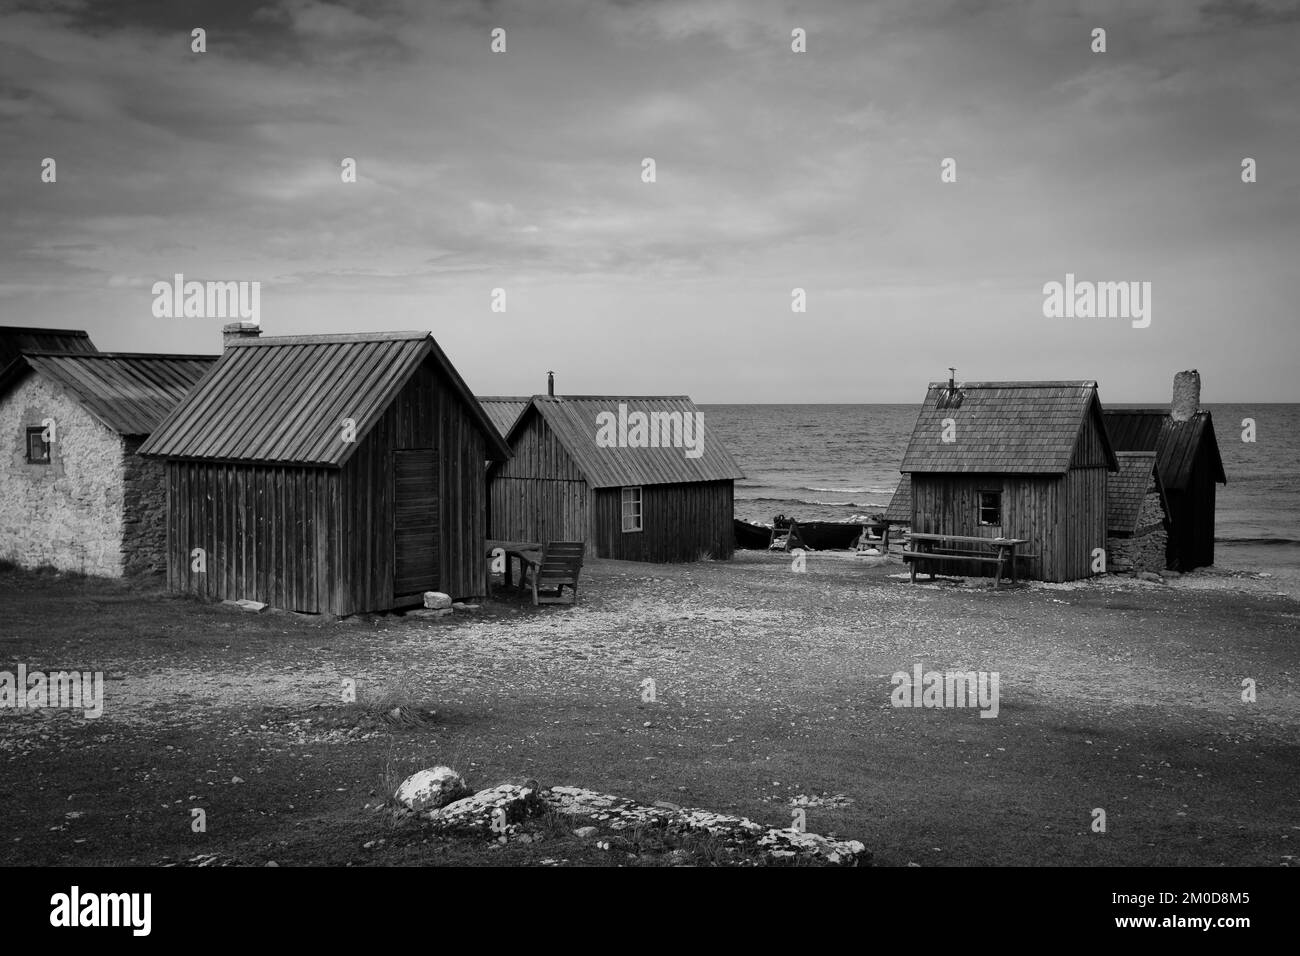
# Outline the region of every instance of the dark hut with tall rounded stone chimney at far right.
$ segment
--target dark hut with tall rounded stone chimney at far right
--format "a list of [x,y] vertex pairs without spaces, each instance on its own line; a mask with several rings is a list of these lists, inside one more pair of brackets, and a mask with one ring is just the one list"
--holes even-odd
[[1200,407],[1200,376],[1180,372],[1170,408],[1112,408],[1106,431],[1121,451],[1154,451],[1169,501],[1165,564],[1191,571],[1214,563],[1214,498],[1227,484],[1210,412]]

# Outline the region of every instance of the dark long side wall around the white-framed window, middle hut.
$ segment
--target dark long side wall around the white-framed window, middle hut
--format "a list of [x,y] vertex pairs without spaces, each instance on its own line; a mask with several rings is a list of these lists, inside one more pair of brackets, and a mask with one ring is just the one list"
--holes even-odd
[[620,488],[595,492],[589,549],[621,561],[696,561],[701,551],[716,559],[736,553],[734,483],[642,485],[642,531],[623,531]]

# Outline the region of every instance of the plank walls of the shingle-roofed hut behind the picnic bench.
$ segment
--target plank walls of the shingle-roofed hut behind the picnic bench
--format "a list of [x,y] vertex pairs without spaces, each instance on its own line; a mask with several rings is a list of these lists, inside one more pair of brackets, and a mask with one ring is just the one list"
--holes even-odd
[[[1092,549],[1106,546],[1106,471],[1075,468],[1044,475],[911,476],[915,532],[1022,537],[1023,550],[1040,555],[1027,574],[1070,581],[1092,574]],[[1001,490],[1002,524],[979,524],[979,492]]]

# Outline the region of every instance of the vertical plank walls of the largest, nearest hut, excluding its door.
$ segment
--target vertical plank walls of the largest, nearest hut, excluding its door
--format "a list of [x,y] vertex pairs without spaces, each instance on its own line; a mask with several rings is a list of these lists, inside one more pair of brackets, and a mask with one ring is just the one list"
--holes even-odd
[[[169,585],[329,614],[419,600],[395,593],[396,450],[436,453],[437,580],[428,587],[485,594],[485,441],[432,365],[412,376],[342,468],[168,462]],[[191,570],[194,548],[205,549],[207,574]]]

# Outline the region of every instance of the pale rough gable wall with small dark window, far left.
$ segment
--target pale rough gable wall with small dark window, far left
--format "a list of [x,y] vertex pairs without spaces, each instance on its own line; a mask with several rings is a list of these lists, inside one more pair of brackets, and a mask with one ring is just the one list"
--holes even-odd
[[[49,464],[26,460],[26,428],[55,420]],[[122,438],[30,375],[0,402],[0,558],[122,574]]]

